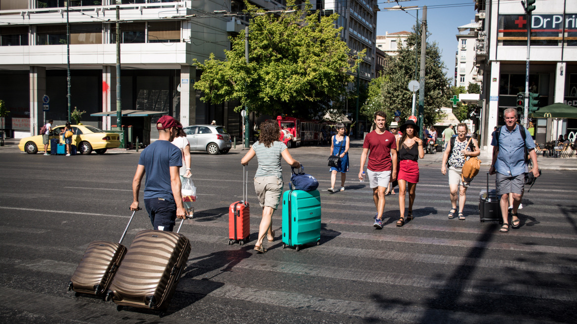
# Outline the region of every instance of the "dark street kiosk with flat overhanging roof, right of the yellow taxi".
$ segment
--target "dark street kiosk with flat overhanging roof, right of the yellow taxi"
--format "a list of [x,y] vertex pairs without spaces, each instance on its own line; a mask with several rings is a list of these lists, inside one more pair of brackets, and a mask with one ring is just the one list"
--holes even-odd
[[[138,139],[138,145],[148,146],[150,145],[150,125],[152,116],[154,115],[166,115],[167,111],[152,111],[152,110],[122,110],[122,131],[125,134],[125,148],[131,146],[136,146]],[[114,111],[103,111],[96,112],[95,114],[90,114],[96,117],[113,117],[116,116],[117,112]],[[113,125],[114,127],[114,125]]]

